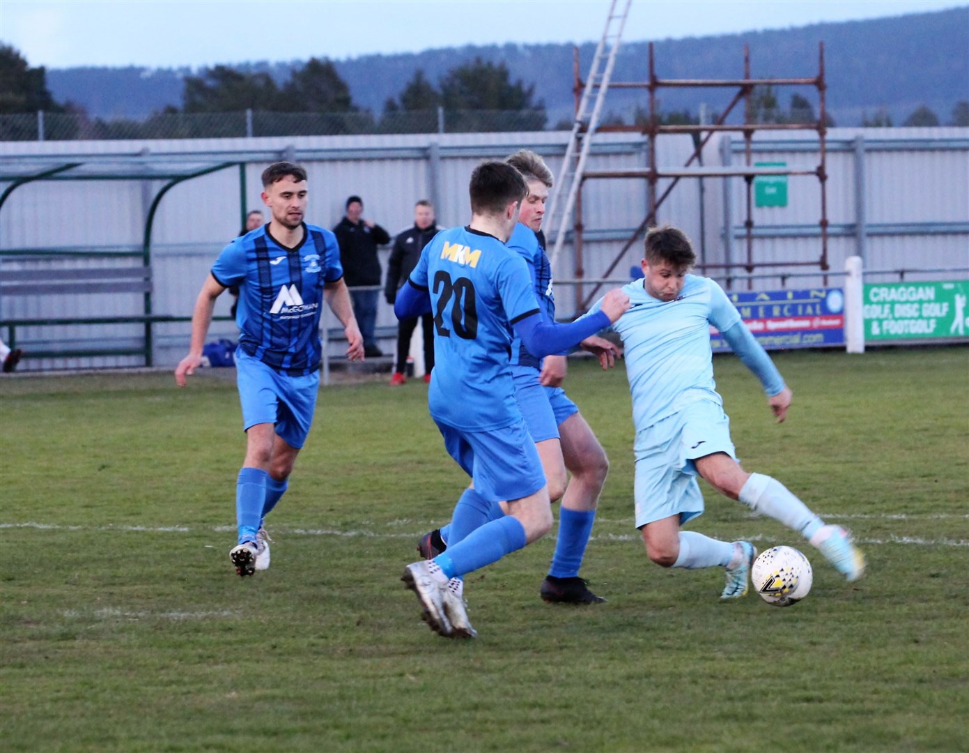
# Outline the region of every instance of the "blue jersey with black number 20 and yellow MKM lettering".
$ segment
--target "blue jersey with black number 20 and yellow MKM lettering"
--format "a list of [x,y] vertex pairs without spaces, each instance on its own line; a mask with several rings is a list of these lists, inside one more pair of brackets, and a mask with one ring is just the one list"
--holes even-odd
[[539,311],[521,257],[493,236],[454,227],[424,246],[410,284],[430,293],[434,315],[434,419],[476,432],[520,421],[512,324]]

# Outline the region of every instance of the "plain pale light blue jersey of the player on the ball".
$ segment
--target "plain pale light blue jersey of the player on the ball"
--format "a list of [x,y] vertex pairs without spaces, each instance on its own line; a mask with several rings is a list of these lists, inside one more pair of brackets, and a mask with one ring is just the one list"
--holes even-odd
[[[699,400],[723,405],[713,381],[710,325],[723,332],[740,313],[709,278],[687,275],[679,297],[653,298],[638,279],[623,287],[632,308],[612,324],[625,347],[626,376],[639,432]],[[600,308],[596,302],[593,311]]]

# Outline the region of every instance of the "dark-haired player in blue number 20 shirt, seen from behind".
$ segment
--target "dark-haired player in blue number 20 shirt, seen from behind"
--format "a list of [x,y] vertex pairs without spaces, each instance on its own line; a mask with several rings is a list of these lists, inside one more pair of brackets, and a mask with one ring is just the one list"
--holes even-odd
[[[465,492],[454,507],[448,550],[409,565],[403,575],[421,601],[424,620],[451,638],[476,635],[460,576],[540,539],[551,527],[546,477],[515,400],[513,331],[542,357],[609,326],[629,303],[612,290],[600,311],[571,324],[548,322],[525,262],[505,246],[527,194],[525,181],[510,165],[485,162],[472,173],[469,193],[471,224],[442,231],[424,247],[394,305],[399,318],[434,314],[428,407],[449,454],[474,483],[474,493]],[[508,514],[490,520],[494,503],[505,503]]]

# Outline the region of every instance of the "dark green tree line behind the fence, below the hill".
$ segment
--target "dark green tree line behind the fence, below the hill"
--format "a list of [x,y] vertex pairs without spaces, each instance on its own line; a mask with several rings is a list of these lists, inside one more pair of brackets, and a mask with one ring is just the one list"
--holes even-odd
[[[204,69],[199,76],[184,80],[181,107],[169,106],[144,122],[90,121],[82,108],[71,102],[55,102],[47,90],[44,67],[31,67],[18,50],[0,45],[0,115],[35,114],[74,115],[87,120],[85,138],[139,138],[154,133],[154,124],[171,120],[172,115],[239,115],[249,111],[254,118],[274,118],[279,135],[338,133],[408,133],[438,130],[437,118],[443,112],[444,130],[450,133],[475,131],[543,130],[547,126],[545,103],[536,101],[535,84],[512,81],[504,63],[481,57],[454,66],[438,81],[428,80],[422,69],[415,71],[396,96],[389,97],[383,111],[373,114],[355,104],[350,86],[327,58],[310,58],[294,69],[285,82],[277,82],[265,72],[247,73],[229,66]],[[514,112],[515,117],[495,118],[495,112]],[[291,115],[286,123],[279,118]],[[298,115],[298,117],[297,117]],[[311,116],[310,116],[311,115]],[[716,115],[708,118],[712,121]],[[747,116],[751,122],[816,121],[811,103],[799,94],[791,96],[789,107],[781,107],[771,86],[755,88]],[[649,115],[637,107],[631,124],[643,125]],[[699,115],[688,110],[654,115],[660,123],[699,123]],[[604,125],[624,124],[622,115],[607,113]],[[826,124],[834,125],[826,114]],[[863,115],[867,127],[894,125],[887,111]],[[942,120],[922,105],[905,117],[902,126],[937,126]],[[969,101],[959,101],[947,124],[969,126]],[[76,126],[77,127],[77,126]],[[556,123],[557,129],[569,129],[571,123]],[[220,133],[219,129],[225,132]],[[203,133],[193,133],[201,129]],[[282,129],[285,133],[280,132]],[[0,138],[12,138],[0,127]],[[258,129],[257,129],[258,130]],[[186,119],[183,131],[174,136],[238,136],[238,124],[231,118],[212,119],[207,123]],[[61,138],[77,138],[70,134]]]

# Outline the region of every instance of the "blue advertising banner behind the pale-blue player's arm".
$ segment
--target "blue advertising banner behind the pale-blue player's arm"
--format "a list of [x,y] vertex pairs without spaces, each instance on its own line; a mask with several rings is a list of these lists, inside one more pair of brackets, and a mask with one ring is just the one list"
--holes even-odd
[[[845,296],[839,287],[727,291],[743,323],[766,350],[845,344]],[[713,352],[730,345],[710,327]]]

